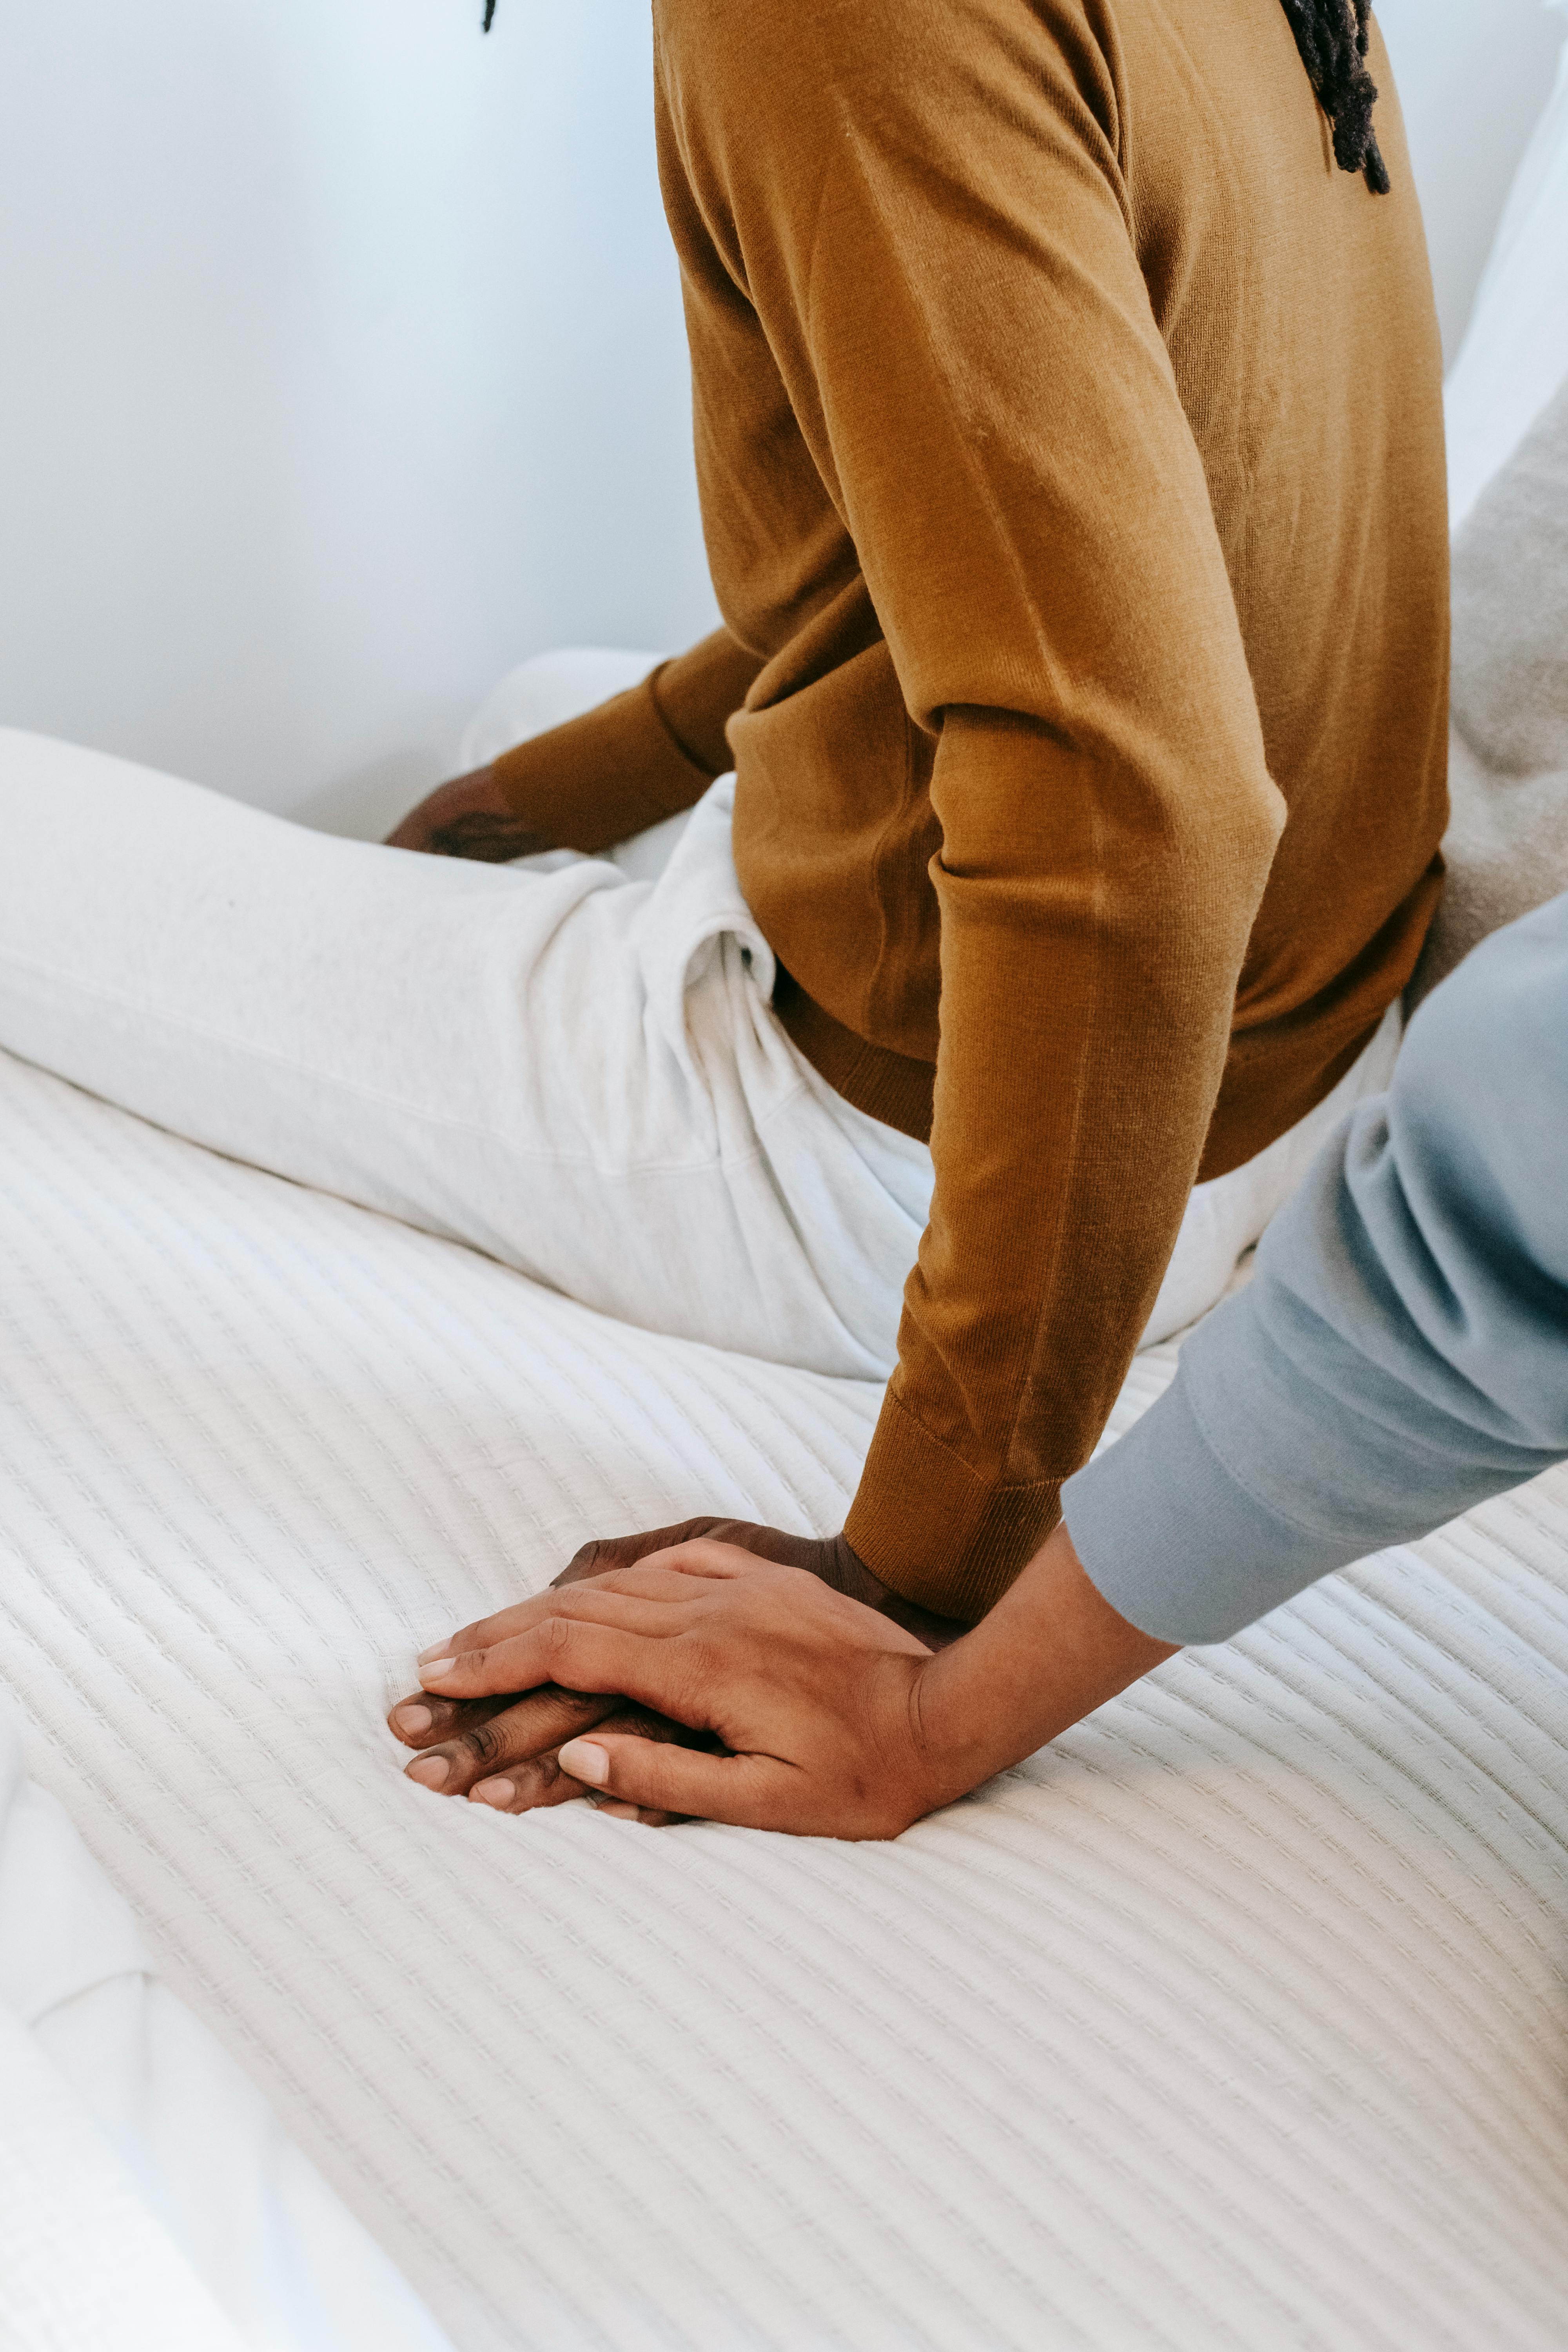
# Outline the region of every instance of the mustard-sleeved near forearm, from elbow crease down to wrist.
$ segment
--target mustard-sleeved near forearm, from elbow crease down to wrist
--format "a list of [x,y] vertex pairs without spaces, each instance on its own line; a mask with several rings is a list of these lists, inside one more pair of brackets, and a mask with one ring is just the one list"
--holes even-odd
[[936,1190],[846,1534],[969,1621],[1053,1526],[1126,1378],[1276,837],[1241,746],[1206,797],[1185,743],[1145,753],[1004,713],[943,724]]

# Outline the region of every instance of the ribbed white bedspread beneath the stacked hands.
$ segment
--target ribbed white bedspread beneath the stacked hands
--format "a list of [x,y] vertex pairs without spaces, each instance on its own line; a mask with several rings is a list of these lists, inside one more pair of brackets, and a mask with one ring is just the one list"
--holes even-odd
[[0,1155],[33,1769],[463,2352],[1561,2352],[1568,1475],[896,1846],[512,1820],[402,1780],[411,1651],[837,1524],[875,1392],[2,1056]]

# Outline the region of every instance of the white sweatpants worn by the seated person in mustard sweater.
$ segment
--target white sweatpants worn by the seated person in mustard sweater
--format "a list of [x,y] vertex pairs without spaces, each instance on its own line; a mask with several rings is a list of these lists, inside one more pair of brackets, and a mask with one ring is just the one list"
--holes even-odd
[[[644,668],[524,663],[465,764]],[[776,1021],[731,790],[614,858],[494,868],[0,734],[0,1044],[607,1315],[882,1378],[931,1155],[832,1094]],[[1331,1103],[1194,1192],[1147,1341],[1213,1305],[1394,1047],[1396,1021]]]

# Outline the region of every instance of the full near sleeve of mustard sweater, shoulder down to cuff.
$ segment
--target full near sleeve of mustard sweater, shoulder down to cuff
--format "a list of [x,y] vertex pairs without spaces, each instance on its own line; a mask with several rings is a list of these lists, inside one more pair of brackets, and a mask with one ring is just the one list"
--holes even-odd
[[846,1534],[973,1618],[1152,1310],[1284,807],[1100,12],[748,0],[745,75],[729,14],[663,66],[686,270],[755,308],[936,743],[936,1192]]

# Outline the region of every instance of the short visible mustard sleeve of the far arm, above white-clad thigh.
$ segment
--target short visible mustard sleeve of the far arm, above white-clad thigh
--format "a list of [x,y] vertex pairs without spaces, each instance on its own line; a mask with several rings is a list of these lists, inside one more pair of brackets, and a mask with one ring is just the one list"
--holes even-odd
[[726,628],[597,710],[494,762],[529,833],[595,854],[703,797],[729,767],[724,727],[762,668]]

